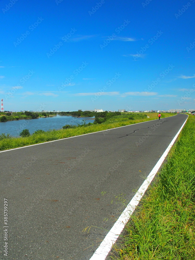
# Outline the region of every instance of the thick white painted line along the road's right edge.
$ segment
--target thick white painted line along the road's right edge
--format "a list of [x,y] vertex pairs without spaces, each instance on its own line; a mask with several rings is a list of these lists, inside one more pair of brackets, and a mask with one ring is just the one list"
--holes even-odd
[[[186,119],[187,121],[187,119]],[[157,164],[154,166],[152,171],[149,173],[148,177],[145,179],[143,184],[140,186],[139,190],[136,192],[132,200],[127,205],[126,209],[122,212],[118,220],[115,222],[114,226],[110,229],[104,240],[101,242],[100,246],[94,252],[93,256],[89,260],[105,260],[108,253],[110,252],[113,244],[116,242],[117,238],[121,234],[123,228],[127,224],[129,218],[131,217],[132,213],[136,209],[137,205],[139,204],[141,198],[144,196],[148,186],[151,184],[154,176],[158,172],[160,166],[162,165],[163,161],[165,160],[168,152],[170,151],[171,147],[173,146],[175,140],[177,139],[179,133],[181,132],[182,128],[184,127],[186,121],[183,123],[179,131],[177,132],[176,136],[171,141],[170,145],[167,147],[165,152],[162,154],[160,159],[158,160]]]

